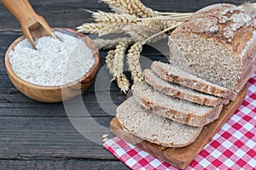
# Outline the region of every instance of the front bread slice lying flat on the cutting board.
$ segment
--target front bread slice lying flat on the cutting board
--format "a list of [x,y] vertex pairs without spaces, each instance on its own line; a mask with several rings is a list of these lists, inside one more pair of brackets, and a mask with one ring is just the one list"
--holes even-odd
[[137,104],[129,98],[117,108],[117,118],[125,131],[166,147],[183,147],[195,141],[202,127],[173,122]]

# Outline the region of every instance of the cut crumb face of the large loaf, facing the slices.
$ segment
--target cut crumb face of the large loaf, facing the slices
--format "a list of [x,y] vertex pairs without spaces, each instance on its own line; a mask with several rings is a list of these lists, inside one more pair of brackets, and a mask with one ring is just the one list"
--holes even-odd
[[177,33],[170,39],[170,48],[172,65],[236,91],[240,63],[224,44],[192,33]]

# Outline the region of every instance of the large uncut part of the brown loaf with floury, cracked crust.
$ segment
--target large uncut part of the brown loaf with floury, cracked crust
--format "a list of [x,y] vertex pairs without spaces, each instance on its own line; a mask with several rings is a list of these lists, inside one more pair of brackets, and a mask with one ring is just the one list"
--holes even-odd
[[237,93],[256,70],[255,26],[235,5],[202,8],[172,32],[170,62]]

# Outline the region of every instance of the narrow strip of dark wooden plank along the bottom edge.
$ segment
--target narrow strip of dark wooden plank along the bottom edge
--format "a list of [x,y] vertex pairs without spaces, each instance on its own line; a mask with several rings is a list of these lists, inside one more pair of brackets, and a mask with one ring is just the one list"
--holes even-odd
[[0,160],[0,169],[9,170],[27,170],[27,169],[37,169],[37,170],[63,170],[63,169],[118,169],[118,170],[128,170],[129,168],[125,166],[121,161],[96,161],[96,160]]

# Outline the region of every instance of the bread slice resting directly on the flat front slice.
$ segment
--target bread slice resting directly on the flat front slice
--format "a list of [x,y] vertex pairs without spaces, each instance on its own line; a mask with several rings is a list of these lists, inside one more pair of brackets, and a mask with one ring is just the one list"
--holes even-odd
[[139,82],[131,87],[134,98],[140,105],[154,113],[190,126],[202,127],[218,118],[223,105],[210,107],[198,105],[183,99],[162,94],[148,85]]

